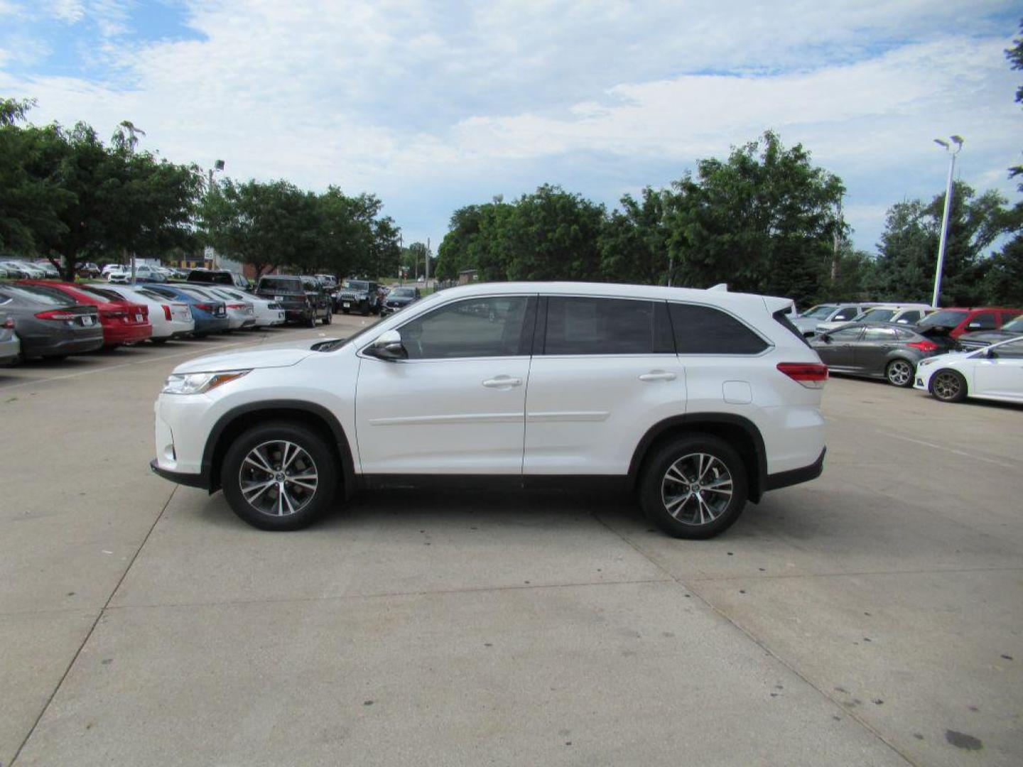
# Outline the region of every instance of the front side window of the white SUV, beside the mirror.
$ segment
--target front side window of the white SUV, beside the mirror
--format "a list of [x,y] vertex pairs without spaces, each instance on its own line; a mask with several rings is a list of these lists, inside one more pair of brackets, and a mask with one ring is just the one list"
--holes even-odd
[[524,353],[527,299],[465,299],[416,317],[398,331],[410,360],[509,357]]

